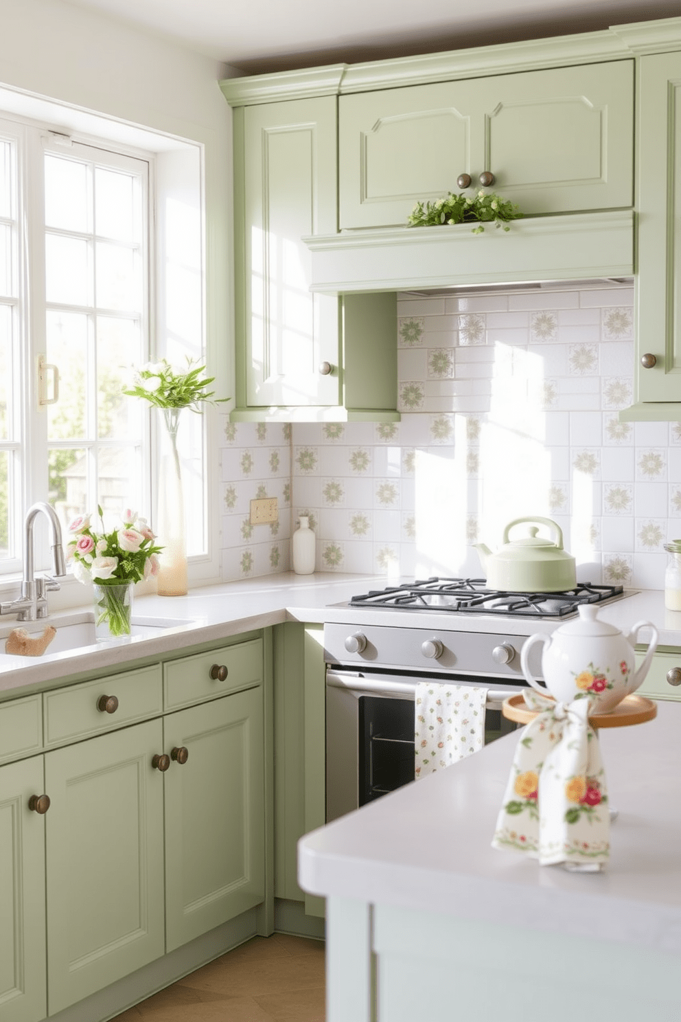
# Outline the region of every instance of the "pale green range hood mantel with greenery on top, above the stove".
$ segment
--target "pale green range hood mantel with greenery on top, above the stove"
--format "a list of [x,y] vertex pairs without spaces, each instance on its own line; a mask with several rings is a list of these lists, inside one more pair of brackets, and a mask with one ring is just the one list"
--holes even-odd
[[470,224],[341,231],[303,238],[310,290],[414,291],[542,281],[618,279],[634,273],[634,214],[527,217],[506,232]]

